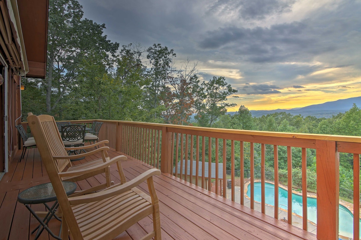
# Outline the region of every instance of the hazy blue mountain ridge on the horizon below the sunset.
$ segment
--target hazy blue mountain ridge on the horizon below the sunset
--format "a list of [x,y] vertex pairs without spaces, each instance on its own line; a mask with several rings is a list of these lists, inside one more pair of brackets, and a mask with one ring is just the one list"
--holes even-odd
[[[361,96],[348,99],[339,99],[336,101],[330,101],[321,104],[309,105],[303,108],[292,108],[292,109],[276,109],[276,110],[250,110],[252,117],[261,117],[263,115],[277,113],[277,112],[286,112],[292,115],[299,115],[303,117],[314,116],[317,118],[325,117],[330,118],[332,115],[337,115],[339,113],[344,113],[352,108],[352,105],[356,103],[357,106],[361,106]],[[229,112],[229,114],[234,114],[234,112]]]

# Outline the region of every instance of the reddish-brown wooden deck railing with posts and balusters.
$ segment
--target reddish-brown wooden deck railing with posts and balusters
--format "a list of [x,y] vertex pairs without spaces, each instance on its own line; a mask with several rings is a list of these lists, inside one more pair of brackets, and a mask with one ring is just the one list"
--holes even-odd
[[[91,123],[72,121],[72,123]],[[317,239],[338,239],[339,222],[339,152],[353,154],[354,198],[353,214],[360,214],[360,154],[361,137],[317,135],[303,133],[279,133],[263,131],[245,131],[171,124],[155,124],[126,121],[99,120],[103,126],[99,139],[109,140],[109,146],[160,168],[185,181],[192,182],[205,189],[215,184],[216,194],[226,194],[226,168],[231,168],[231,196],[235,201],[235,159],[240,160],[240,176],[244,176],[244,161],[250,163],[251,203],[255,208],[253,187],[255,182],[255,164],[260,164],[261,212],[265,213],[265,162],[266,146],[273,149],[274,184],[278,186],[278,149],[287,150],[288,209],[292,205],[292,149],[300,148],[302,162],[303,229],[307,230],[307,181],[306,154],[308,149],[316,150],[317,171]],[[227,146],[230,146],[227,148]],[[255,148],[260,152],[256,156]],[[228,150],[228,151],[227,151]],[[270,154],[270,151],[268,151]],[[211,161],[208,161],[211,159]],[[258,163],[258,160],[259,163]],[[189,167],[188,167],[189,162]],[[212,164],[213,163],[213,164]],[[187,166],[187,167],[186,167]],[[208,170],[205,170],[208,167]],[[213,168],[213,169],[212,169]],[[238,169],[237,169],[238,170]],[[213,180],[212,180],[213,179]],[[223,180],[223,181],[221,181]],[[222,186],[219,187],[219,184]],[[244,181],[240,181],[240,204],[244,204]],[[220,190],[219,190],[220,189]],[[237,193],[238,194],[238,193]],[[278,187],[275,187],[274,217],[278,218]],[[288,211],[288,223],[292,224],[292,211]],[[359,237],[359,218],[354,218],[354,239]]]

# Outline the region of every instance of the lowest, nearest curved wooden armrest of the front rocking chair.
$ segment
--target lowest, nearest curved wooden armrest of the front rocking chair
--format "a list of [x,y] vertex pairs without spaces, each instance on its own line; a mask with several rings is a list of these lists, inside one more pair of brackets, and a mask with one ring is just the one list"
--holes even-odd
[[[110,198],[112,196],[124,193],[125,191],[128,191],[128,190],[138,186],[139,184],[141,184],[148,178],[151,178],[153,175],[160,175],[160,174],[161,174],[161,172],[159,169],[152,168],[152,169],[149,169],[148,171],[142,173],[138,177],[130,180],[129,182],[126,182],[125,184],[116,184],[110,188],[107,188],[107,189],[97,192],[97,193],[70,197],[69,202],[70,202],[70,205],[76,205],[76,204],[82,204],[82,203],[92,203],[94,201],[99,201],[99,200],[103,200],[106,198]],[[152,184],[152,182],[151,182],[151,184]]]

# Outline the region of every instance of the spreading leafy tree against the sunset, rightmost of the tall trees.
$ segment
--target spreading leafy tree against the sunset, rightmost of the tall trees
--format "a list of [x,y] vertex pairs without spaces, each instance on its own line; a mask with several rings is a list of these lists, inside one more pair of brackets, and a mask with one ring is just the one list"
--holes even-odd
[[213,77],[209,82],[203,81],[196,91],[195,119],[202,127],[211,127],[217,118],[226,114],[227,108],[236,106],[235,103],[226,102],[228,96],[238,91],[226,82],[225,77]]

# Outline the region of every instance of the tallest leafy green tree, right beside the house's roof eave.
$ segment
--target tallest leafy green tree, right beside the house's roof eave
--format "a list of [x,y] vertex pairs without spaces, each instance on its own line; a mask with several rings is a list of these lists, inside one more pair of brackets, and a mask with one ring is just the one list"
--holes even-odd
[[103,35],[105,24],[82,17],[82,6],[76,0],[49,2],[48,73],[43,82],[48,113],[58,107],[72,87],[78,87],[75,80],[82,61],[100,57],[100,62],[110,68],[109,54],[114,56],[119,47]]

